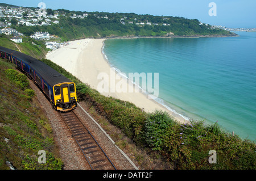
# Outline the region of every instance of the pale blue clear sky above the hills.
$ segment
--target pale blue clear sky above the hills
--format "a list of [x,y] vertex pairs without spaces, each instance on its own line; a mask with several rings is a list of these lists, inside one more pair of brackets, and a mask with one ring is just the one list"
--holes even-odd
[[[230,28],[256,28],[255,0],[1,0],[11,5],[75,11],[134,12],[160,16],[182,16]],[[209,3],[216,3],[216,16],[209,16]]]

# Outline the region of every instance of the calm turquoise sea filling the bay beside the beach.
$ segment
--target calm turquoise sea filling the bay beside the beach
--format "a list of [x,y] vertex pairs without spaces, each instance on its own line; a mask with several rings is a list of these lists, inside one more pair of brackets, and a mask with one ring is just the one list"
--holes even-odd
[[156,99],[170,110],[256,139],[256,32],[238,37],[108,39],[122,73],[159,73]]

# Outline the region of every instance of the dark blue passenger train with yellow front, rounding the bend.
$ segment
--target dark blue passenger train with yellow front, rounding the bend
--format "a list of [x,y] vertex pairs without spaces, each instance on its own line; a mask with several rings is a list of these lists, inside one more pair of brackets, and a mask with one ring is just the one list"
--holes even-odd
[[77,107],[76,85],[36,58],[0,46],[1,58],[6,58],[32,79],[44,92],[56,111],[71,111]]

